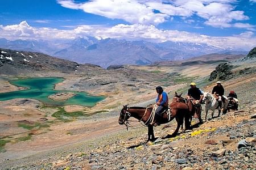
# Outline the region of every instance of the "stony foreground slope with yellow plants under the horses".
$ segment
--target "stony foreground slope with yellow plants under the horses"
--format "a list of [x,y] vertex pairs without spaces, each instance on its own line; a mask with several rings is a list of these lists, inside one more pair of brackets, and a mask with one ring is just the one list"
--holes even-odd
[[[193,120],[193,130],[174,138],[164,138],[176,122],[155,128],[155,142],[146,142],[146,128],[123,128],[119,133],[80,143],[38,159],[12,165],[12,169],[255,169],[256,101],[246,93],[256,81],[241,80],[239,111],[228,112],[202,125]],[[238,79],[234,79],[237,82]],[[232,84],[225,83],[229,90]],[[210,88],[210,87],[209,87]],[[206,89],[207,90],[207,89]],[[204,112],[203,112],[204,113]],[[215,115],[216,116],[216,115]],[[117,121],[117,119],[116,119]],[[180,131],[181,132],[181,131]],[[97,141],[97,142],[96,142]],[[95,143],[96,142],[96,143]],[[93,144],[93,147],[90,146]],[[42,163],[43,160],[43,163]],[[6,163],[6,162],[5,162]],[[9,162],[11,163],[11,162]]]

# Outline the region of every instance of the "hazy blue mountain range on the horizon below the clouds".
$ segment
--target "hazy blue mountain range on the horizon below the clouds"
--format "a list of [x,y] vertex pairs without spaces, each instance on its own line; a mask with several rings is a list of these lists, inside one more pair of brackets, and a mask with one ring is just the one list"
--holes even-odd
[[109,65],[147,65],[157,61],[176,61],[210,53],[248,53],[243,50],[191,42],[98,40],[90,36],[61,41],[0,39],[0,48],[40,52],[78,63],[93,63],[105,68]]

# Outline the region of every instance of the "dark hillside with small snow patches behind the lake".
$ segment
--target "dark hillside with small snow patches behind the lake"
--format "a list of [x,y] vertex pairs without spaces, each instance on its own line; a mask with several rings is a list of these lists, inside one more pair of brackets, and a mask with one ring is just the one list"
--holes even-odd
[[22,75],[29,73],[86,73],[103,70],[100,66],[80,65],[73,61],[48,56],[42,53],[23,52],[0,48],[0,73],[3,75]]

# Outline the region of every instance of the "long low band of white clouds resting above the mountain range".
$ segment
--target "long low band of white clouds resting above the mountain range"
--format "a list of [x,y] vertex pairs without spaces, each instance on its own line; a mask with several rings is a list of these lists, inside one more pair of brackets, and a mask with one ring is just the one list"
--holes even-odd
[[[245,27],[240,23],[237,27]],[[250,25],[249,25],[250,26]],[[252,31],[243,32],[240,35],[217,37],[200,35],[185,31],[158,29],[154,25],[143,24],[118,24],[114,27],[102,27],[101,25],[80,25],[75,29],[63,30],[53,28],[34,28],[26,21],[18,25],[0,25],[0,37],[10,40],[15,39],[75,39],[80,36],[94,36],[97,39],[115,38],[127,40],[151,40],[155,42],[178,41],[206,43],[226,48],[242,48],[249,50],[256,44],[256,36]]]

